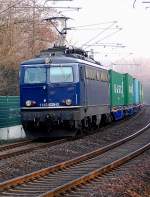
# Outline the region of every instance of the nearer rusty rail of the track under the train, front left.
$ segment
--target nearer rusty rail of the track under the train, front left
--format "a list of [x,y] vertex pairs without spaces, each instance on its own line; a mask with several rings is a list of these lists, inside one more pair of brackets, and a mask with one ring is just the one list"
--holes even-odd
[[[34,146],[34,147],[31,146],[31,147],[27,147],[27,148],[24,148],[24,149],[21,149],[21,150],[14,150],[14,151],[12,150],[12,152],[0,154],[0,160],[7,159],[9,157],[13,157],[13,156],[17,156],[17,155],[21,155],[21,154],[25,154],[25,153],[28,153],[28,152],[31,152],[33,150],[37,150],[37,149],[40,149],[40,148],[46,148],[46,147],[49,147],[49,146],[51,147],[51,146],[55,146],[55,145],[58,145],[58,144],[62,144],[66,141],[67,141],[67,139],[61,139],[61,140],[55,140],[55,141],[52,141],[52,142],[40,144],[40,145],[37,144],[37,146]],[[24,144],[24,145],[26,145],[26,144]]]

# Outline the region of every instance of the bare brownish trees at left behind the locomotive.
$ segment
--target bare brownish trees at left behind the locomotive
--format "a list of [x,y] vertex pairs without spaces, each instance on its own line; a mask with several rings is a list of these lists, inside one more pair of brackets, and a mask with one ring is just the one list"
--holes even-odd
[[[36,0],[0,0],[0,82],[4,81],[1,87],[12,89],[7,87],[6,81],[6,73],[12,72],[6,70],[14,69],[17,73],[21,61],[32,58],[57,39],[50,24],[43,21],[52,12],[54,10],[45,9]],[[17,79],[14,83],[17,86]],[[0,91],[0,94],[3,93]]]

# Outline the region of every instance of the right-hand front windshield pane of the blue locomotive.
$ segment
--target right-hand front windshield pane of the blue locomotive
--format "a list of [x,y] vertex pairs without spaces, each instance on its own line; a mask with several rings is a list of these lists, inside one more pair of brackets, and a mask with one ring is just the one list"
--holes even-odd
[[73,69],[71,66],[54,66],[50,68],[51,83],[73,82]]

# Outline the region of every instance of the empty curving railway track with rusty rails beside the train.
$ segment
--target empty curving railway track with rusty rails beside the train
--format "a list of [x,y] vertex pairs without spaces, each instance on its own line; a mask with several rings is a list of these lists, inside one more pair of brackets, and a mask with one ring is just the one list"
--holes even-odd
[[75,189],[79,186],[108,173],[149,149],[149,127],[150,123],[135,134],[108,146],[3,182],[0,184],[0,196],[77,196]]

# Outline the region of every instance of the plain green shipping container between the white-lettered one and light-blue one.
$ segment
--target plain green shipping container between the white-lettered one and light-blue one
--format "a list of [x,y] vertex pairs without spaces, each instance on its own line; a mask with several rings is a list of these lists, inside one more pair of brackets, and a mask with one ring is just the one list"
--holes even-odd
[[133,77],[128,73],[124,74],[124,104],[132,105],[134,102]]

